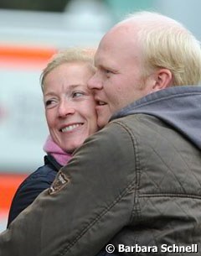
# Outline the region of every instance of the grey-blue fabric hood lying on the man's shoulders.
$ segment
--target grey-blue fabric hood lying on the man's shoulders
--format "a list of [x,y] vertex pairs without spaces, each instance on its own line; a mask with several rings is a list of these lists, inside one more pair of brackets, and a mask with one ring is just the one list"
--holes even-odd
[[153,92],[122,108],[111,120],[137,113],[161,119],[201,149],[201,86],[174,86]]

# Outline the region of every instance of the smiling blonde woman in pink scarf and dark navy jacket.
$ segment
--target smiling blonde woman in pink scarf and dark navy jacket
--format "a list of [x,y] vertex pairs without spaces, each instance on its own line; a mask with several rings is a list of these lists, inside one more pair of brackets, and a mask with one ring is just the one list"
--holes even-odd
[[18,187],[8,216],[8,226],[54,181],[58,170],[85,138],[98,130],[95,100],[87,81],[95,73],[95,50],[69,49],[54,55],[41,75],[49,138],[44,144],[44,165]]

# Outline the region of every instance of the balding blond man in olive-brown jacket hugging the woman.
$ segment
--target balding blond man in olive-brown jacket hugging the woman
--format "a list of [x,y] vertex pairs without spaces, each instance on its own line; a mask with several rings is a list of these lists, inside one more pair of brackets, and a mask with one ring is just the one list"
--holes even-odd
[[136,13],[101,39],[95,66],[98,124],[110,122],[2,233],[0,255],[197,255],[198,41],[173,19]]

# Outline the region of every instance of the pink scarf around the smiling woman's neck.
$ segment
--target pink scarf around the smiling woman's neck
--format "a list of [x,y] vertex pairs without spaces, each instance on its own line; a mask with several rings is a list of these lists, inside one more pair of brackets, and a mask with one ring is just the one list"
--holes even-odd
[[51,154],[54,159],[56,159],[57,162],[63,166],[66,165],[72,157],[71,154],[68,154],[64,152],[63,149],[59,148],[58,144],[54,143],[50,135],[44,144],[44,152]]

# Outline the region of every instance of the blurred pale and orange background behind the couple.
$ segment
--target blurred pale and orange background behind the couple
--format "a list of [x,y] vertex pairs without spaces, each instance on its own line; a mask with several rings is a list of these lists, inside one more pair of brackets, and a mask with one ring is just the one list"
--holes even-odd
[[199,0],[0,0],[0,232],[22,180],[43,165],[48,135],[39,76],[70,46],[97,46],[126,14],[156,11],[201,39]]

